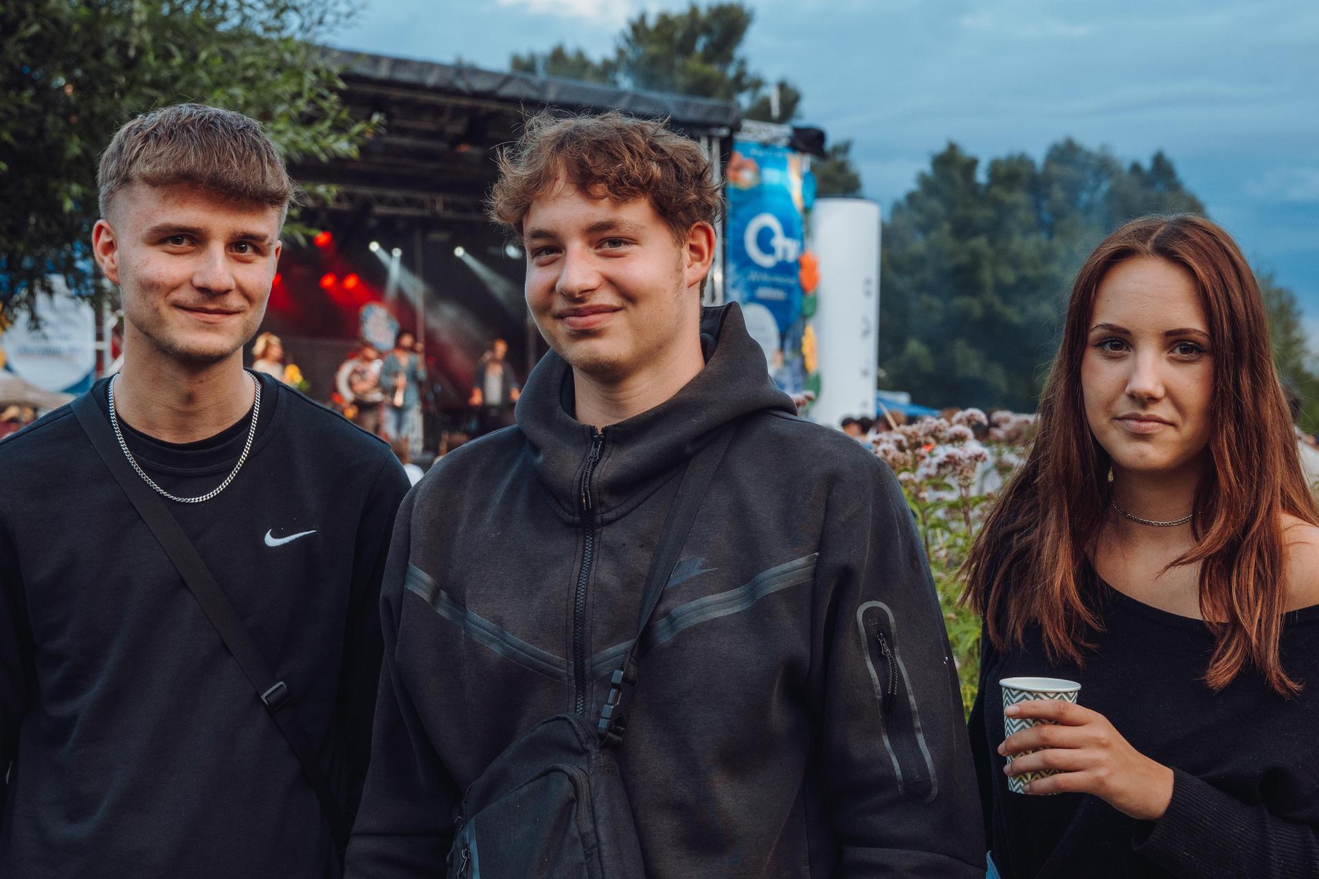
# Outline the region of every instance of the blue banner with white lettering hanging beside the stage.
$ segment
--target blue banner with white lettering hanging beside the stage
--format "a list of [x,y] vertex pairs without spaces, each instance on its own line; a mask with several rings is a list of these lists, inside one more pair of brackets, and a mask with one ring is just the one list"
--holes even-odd
[[728,162],[725,289],[765,349],[774,381],[798,391],[801,362],[803,213],[811,181],[786,146],[733,141]]

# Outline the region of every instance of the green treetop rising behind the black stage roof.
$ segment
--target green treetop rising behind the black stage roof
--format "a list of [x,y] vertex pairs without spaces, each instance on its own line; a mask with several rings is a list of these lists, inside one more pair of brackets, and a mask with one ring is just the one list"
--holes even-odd
[[[740,54],[754,18],[754,12],[741,3],[706,8],[692,3],[654,16],[642,12],[624,26],[611,57],[595,61],[580,49],[559,43],[543,53],[514,54],[509,66],[546,76],[736,100],[747,119],[791,123],[801,109],[801,90],[786,79],[769,87],[778,92],[776,113],[765,79]],[[861,175],[852,165],[851,146],[851,141],[835,144],[828,158],[813,162],[819,195],[860,195]]]

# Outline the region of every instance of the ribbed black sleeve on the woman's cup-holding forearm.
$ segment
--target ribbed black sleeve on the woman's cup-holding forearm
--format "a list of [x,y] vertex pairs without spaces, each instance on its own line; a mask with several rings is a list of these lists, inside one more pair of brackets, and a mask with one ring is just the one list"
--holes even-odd
[[[1308,809],[1316,818],[1315,809]],[[1319,824],[1319,821],[1316,821]],[[1173,770],[1173,800],[1136,850],[1179,879],[1319,876],[1315,824],[1289,821]]]

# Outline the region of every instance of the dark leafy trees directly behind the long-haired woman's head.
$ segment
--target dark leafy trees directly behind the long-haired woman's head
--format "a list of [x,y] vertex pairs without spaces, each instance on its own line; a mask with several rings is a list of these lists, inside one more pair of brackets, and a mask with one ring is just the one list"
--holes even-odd
[[981,174],[948,144],[884,224],[885,383],[930,406],[1033,411],[1080,264],[1119,224],[1182,211],[1204,206],[1162,153],[1122,166],[1068,138]]

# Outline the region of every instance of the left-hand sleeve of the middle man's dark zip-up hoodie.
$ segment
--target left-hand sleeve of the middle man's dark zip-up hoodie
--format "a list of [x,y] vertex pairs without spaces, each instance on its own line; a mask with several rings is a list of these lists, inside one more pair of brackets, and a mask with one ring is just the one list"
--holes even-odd
[[398,510],[381,586],[385,654],[380,666],[371,768],[348,846],[350,879],[443,875],[459,801],[458,787],[431,746],[413,705],[405,669],[398,663],[415,498],[413,490]]

